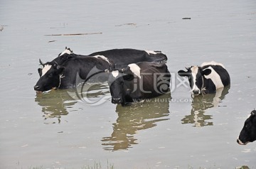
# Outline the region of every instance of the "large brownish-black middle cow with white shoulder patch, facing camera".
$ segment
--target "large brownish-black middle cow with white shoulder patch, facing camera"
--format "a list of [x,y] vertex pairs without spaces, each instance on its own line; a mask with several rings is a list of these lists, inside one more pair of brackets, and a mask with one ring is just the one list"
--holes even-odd
[[114,104],[124,106],[169,92],[171,75],[164,63],[132,63],[108,73],[108,84]]

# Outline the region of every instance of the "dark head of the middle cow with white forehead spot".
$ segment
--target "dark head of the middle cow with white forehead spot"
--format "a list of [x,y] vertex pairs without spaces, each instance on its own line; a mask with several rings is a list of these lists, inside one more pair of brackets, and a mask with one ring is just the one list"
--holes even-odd
[[134,92],[134,78],[139,77],[139,75],[134,74],[134,70],[131,70],[129,66],[119,70],[107,70],[106,72],[109,73],[108,84],[112,103],[124,105],[127,102],[127,97]]

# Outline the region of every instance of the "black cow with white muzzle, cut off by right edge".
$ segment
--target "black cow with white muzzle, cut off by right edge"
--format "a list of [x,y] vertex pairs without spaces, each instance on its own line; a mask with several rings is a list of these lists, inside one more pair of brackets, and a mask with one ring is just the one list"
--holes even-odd
[[256,110],[252,110],[250,116],[245,120],[245,125],[238,136],[237,142],[240,145],[246,145],[247,143],[256,140]]

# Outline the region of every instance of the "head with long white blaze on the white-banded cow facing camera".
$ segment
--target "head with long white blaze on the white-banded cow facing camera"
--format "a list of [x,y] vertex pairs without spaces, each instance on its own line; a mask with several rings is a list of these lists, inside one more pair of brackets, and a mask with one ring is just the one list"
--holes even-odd
[[210,75],[210,69],[202,69],[202,67],[192,66],[186,67],[187,71],[179,70],[178,75],[181,77],[188,77],[189,85],[193,95],[201,94],[203,88],[203,78]]

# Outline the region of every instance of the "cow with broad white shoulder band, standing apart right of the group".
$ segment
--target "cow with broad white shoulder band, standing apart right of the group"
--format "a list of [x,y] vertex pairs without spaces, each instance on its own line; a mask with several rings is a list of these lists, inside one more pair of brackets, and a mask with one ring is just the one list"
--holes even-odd
[[216,89],[230,84],[230,75],[223,64],[218,62],[203,62],[198,66],[179,70],[178,75],[188,77],[192,96],[198,94],[215,93]]

